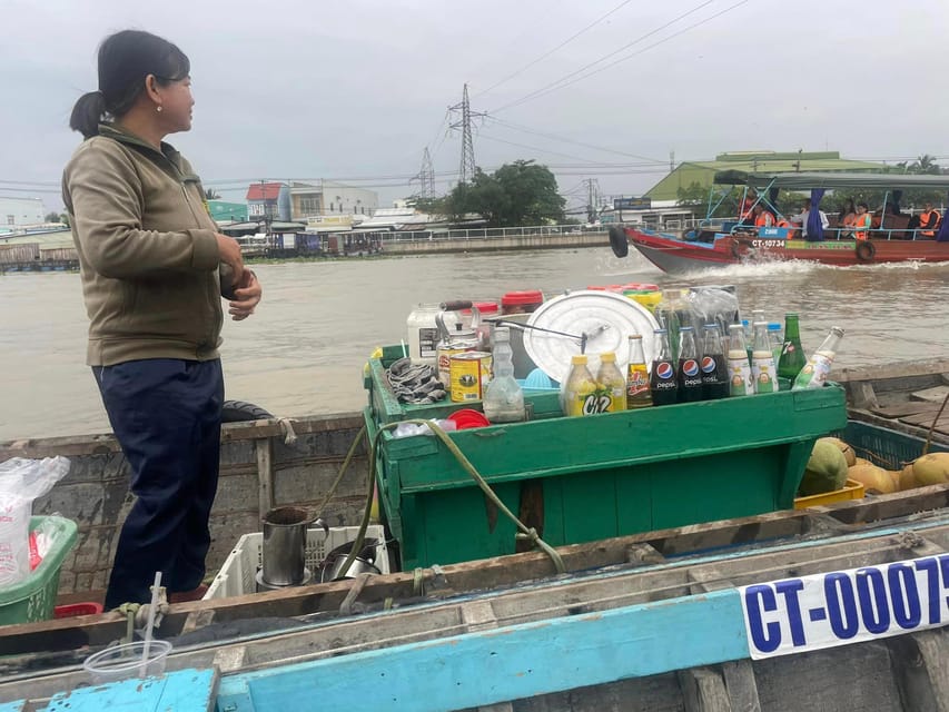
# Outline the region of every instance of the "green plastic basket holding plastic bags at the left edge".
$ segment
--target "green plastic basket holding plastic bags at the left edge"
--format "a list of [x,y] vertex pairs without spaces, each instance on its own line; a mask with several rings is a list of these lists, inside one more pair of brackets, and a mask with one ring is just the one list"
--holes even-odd
[[60,516],[30,517],[30,531],[52,525],[56,537],[46,557],[20,583],[0,587],[0,625],[36,623],[52,617],[59,591],[59,571],[76,543],[76,522]]

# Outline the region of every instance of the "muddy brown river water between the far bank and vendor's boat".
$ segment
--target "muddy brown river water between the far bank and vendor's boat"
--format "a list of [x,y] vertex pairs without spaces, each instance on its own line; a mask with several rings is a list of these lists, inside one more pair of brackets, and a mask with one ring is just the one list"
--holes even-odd
[[[512,289],[547,295],[590,285],[661,287],[733,284],[742,310],[772,320],[801,315],[804,349],[833,325],[847,335],[836,366],[945,356],[949,264],[847,269],[777,263],[668,276],[637,254],[607,247],[503,255],[265,264],[264,301],[227,322],[221,348],[227,397],[279,416],[353,412],[366,403],[362,367],[372,350],[406,338],[421,301],[496,298]],[[0,441],[107,432],[85,366],[86,312],[78,274],[0,276]]]

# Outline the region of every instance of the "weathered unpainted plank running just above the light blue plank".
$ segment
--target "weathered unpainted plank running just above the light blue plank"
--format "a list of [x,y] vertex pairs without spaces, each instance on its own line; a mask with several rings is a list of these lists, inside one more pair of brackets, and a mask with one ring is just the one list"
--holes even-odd
[[[949,545],[949,523],[918,530],[923,541]],[[851,535],[846,541],[805,542],[800,545],[775,546],[731,554],[706,554],[699,560],[668,562],[653,570],[635,568],[627,572],[606,571],[580,580],[554,580],[541,585],[513,589],[506,592],[484,594],[469,601],[455,600],[432,603],[417,602],[397,613],[376,613],[365,616],[328,621],[312,629],[294,629],[275,632],[266,637],[244,637],[217,644],[204,644],[188,649],[188,642],[174,641],[176,651],[169,659],[169,669],[194,668],[218,664],[218,656],[227,649],[239,650],[246,666],[257,669],[279,664],[313,661],[317,659],[353,654],[367,650],[388,649],[399,643],[431,641],[455,633],[469,631],[480,623],[513,625],[541,622],[553,617],[591,614],[613,607],[670,601],[690,594],[689,580],[718,584],[731,581],[738,585],[773,581],[788,576],[808,575],[827,571],[839,571],[866,565],[879,565],[906,557],[899,530]],[[692,575],[692,573],[694,575]],[[619,575],[617,575],[619,574]],[[711,587],[711,585],[709,586]],[[467,607],[474,604],[473,607]],[[486,604],[490,604],[490,609]],[[174,616],[174,613],[172,613]],[[162,625],[162,629],[165,625]],[[235,630],[236,626],[235,626]],[[478,629],[484,630],[484,629]],[[165,631],[162,630],[162,634]],[[839,651],[834,651],[839,653]],[[82,655],[63,660],[76,664]],[[29,663],[30,661],[26,661]],[[85,681],[85,673],[65,672],[46,675],[29,682],[11,680],[20,675],[22,668],[4,661],[0,669],[7,678],[0,683],[0,700],[16,700],[28,694],[39,694],[37,689],[52,694],[71,689]],[[740,666],[740,663],[739,663]],[[826,665],[821,665],[826,668]],[[34,670],[36,666],[29,668]],[[75,669],[73,669],[75,670]],[[723,668],[723,674],[725,670]],[[20,678],[22,680],[22,678]],[[726,684],[733,685],[732,682]],[[29,685],[24,690],[24,685]],[[751,688],[749,688],[751,689]],[[730,688],[733,705],[738,704],[739,691]],[[561,709],[561,708],[553,708]],[[606,708],[612,709],[612,708]],[[751,710],[752,708],[740,708]],[[830,709],[820,708],[815,709]],[[851,708],[857,710],[859,708]]]

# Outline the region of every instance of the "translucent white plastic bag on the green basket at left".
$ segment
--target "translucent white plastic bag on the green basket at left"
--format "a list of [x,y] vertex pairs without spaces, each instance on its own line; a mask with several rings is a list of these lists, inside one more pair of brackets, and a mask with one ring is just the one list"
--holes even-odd
[[33,500],[52,490],[68,472],[66,457],[13,457],[0,463],[0,586],[29,575]]

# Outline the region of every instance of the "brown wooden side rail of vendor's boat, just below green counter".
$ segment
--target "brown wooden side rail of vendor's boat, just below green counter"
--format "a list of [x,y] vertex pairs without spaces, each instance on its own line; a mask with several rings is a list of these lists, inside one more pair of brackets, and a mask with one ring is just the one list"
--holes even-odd
[[[560,547],[567,571],[585,571],[623,564],[630,547],[649,544],[668,556],[696,551],[735,547],[762,541],[794,541],[810,531],[814,513],[823,513],[847,524],[886,521],[918,512],[949,507],[949,485],[936,485],[882,495],[873,500],[854,500],[808,511],[775,512],[739,520],[695,524],[674,530],[649,532],[586,544]],[[551,576],[553,565],[545,554],[531,552],[496,558],[453,564],[443,567],[447,589],[438,595],[514,585]],[[435,574],[425,570],[426,581]],[[413,599],[412,573],[374,576],[366,583],[362,600],[368,603],[387,597]],[[176,604],[166,619],[164,635],[177,633],[192,612],[215,611],[215,620],[306,615],[317,611],[338,610],[350,582],[334,582],[271,591],[205,602]],[[125,633],[125,619],[115,613],[81,616],[41,623],[0,626],[0,654],[27,654],[33,651],[75,650],[82,645],[101,645]]]

